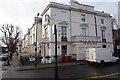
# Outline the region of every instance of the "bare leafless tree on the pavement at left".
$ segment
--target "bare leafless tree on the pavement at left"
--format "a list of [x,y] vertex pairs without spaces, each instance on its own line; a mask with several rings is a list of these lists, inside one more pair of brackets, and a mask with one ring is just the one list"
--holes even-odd
[[16,51],[17,44],[21,39],[21,29],[12,24],[3,24],[0,28],[0,31],[2,32],[1,41],[7,45],[9,54],[7,64],[10,65],[9,62],[12,60],[13,53]]

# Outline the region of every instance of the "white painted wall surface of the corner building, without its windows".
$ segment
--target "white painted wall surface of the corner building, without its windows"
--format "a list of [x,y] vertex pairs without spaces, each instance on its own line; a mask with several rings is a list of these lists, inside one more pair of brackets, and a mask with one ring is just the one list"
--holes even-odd
[[[82,6],[80,6],[80,7],[82,7]],[[85,7],[83,7],[83,8],[85,8]],[[88,7],[87,9],[94,11],[93,8]],[[65,21],[68,23],[68,25],[66,25],[67,26],[68,41],[71,41],[72,36],[81,35],[81,26],[80,25],[84,24],[84,23],[88,25],[87,36],[96,36],[94,14],[88,14],[88,13],[83,13],[83,12],[78,12],[78,11],[71,11],[70,12],[69,10],[58,9],[58,8],[49,8],[45,14],[50,15],[50,25],[48,26],[48,34],[49,34],[48,37],[49,37],[50,41],[54,41],[54,36],[52,35],[52,25],[53,24],[56,24],[56,26],[57,26],[58,41],[61,41],[61,27],[60,27],[61,24],[59,24],[59,23],[62,21]],[[45,14],[43,15],[43,19],[42,19],[42,26],[45,24],[45,22],[44,22],[45,21],[44,20]],[[81,14],[86,15],[86,22],[81,22]],[[71,22],[70,22],[70,17],[71,17]],[[105,24],[100,23],[101,18],[104,19]],[[111,19],[107,18],[107,17],[96,16],[96,20],[97,20],[97,34],[98,34],[98,36],[101,37],[101,35],[102,35],[101,34],[101,27],[105,26],[106,27],[107,42],[112,43]],[[44,27],[42,29],[43,29],[42,34],[44,35]],[[43,38],[44,38],[44,36],[43,36]],[[113,48],[112,44],[108,44],[108,45],[110,45],[109,47],[111,47],[111,49]],[[108,45],[107,45],[107,47],[108,47]],[[86,46],[94,47],[95,45],[86,45]],[[102,45],[99,44],[97,46],[100,47]],[[81,45],[76,46],[76,50],[74,50],[74,51],[77,51],[76,52],[77,54],[81,54],[79,47],[83,47],[83,46],[81,46]],[[75,49],[75,47],[68,45],[68,54],[72,54],[71,52],[73,52],[73,49]],[[84,53],[84,50],[83,50],[83,53]],[[50,49],[49,49],[48,54],[54,55],[54,44],[50,44]],[[61,45],[59,45],[58,54],[61,54]]]

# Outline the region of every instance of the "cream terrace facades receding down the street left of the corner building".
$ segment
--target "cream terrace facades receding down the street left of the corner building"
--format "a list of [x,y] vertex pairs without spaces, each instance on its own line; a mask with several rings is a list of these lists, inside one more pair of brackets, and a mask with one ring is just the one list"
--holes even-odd
[[30,29],[28,29],[27,34],[24,36],[24,39],[22,40],[22,53],[26,53],[28,55],[30,54],[34,55],[35,47],[36,47],[36,39],[37,39],[37,53],[40,52],[40,43],[42,40],[41,24],[42,24],[42,18],[35,17],[35,22],[33,26]]

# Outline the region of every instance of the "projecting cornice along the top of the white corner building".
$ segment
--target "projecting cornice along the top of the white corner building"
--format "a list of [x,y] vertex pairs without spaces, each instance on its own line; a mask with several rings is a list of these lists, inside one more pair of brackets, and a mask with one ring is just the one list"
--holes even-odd
[[[81,4],[81,5],[84,5],[84,4]],[[85,5],[85,6],[90,6],[90,5]],[[71,7],[70,5],[60,4],[60,3],[56,3],[56,2],[50,2],[50,4],[48,4],[47,7],[41,13],[41,16],[43,16],[50,7],[69,10],[69,11],[78,11],[78,12],[84,12],[84,13],[89,13],[89,14],[95,14],[95,15],[103,16],[103,17],[110,17],[110,18],[112,17],[112,16],[110,16],[109,13],[105,13],[102,11],[100,12],[100,11],[96,11],[96,10],[88,11],[88,10],[84,10],[84,9],[76,9],[76,8]],[[94,6],[90,6],[90,7],[94,7]]]

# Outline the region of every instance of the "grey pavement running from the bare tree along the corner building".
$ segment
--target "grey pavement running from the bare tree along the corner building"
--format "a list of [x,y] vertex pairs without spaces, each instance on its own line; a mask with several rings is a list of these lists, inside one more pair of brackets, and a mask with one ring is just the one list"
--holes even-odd
[[[62,63],[58,63],[58,66],[62,67],[62,66],[75,66],[75,65],[85,65],[85,64],[87,64],[86,61],[77,61],[77,62],[68,62],[68,63],[62,62]],[[35,67],[35,65],[21,66],[17,58],[17,55],[14,54],[12,60],[10,61],[10,66],[4,66],[3,70],[24,71],[24,70],[35,70],[35,69],[44,69],[44,68],[53,68],[53,67],[55,67],[55,63],[39,64],[37,65],[37,67]]]

